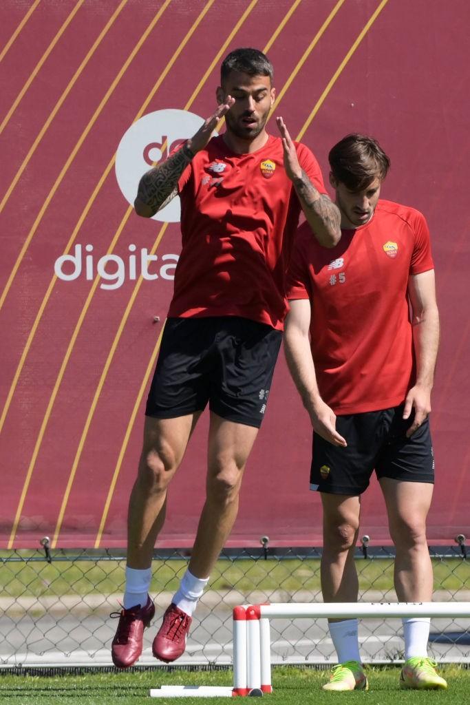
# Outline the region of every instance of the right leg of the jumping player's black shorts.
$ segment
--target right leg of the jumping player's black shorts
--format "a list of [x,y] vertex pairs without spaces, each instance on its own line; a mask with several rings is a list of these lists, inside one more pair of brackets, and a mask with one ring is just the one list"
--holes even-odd
[[282,333],[250,319],[226,317],[216,343],[209,407],[219,417],[259,428],[268,403]]

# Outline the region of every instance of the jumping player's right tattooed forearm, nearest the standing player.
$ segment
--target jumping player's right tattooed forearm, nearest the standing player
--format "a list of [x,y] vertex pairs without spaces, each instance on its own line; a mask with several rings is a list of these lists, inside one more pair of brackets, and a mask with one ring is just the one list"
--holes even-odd
[[294,188],[302,209],[321,245],[333,247],[341,237],[341,215],[330,198],[316,190],[302,169],[302,176],[294,180]]

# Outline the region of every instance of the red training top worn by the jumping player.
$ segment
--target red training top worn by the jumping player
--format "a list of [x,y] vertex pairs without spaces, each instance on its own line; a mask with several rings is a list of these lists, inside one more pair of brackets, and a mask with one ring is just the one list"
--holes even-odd
[[[304,145],[296,149],[325,193],[314,155]],[[213,137],[183,171],[178,191],[183,249],[168,316],[242,316],[282,330],[300,204],[280,137],[251,154],[230,152],[222,136]]]

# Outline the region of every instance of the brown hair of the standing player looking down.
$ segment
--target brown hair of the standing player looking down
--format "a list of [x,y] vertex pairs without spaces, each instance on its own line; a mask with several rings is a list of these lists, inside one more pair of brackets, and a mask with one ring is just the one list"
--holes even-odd
[[328,154],[335,180],[352,191],[361,191],[374,178],[383,180],[390,168],[390,159],[373,137],[352,133],[343,137]]

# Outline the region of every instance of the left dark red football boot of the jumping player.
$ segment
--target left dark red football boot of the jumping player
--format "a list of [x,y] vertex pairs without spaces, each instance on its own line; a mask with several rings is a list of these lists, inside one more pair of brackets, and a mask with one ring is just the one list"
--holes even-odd
[[145,607],[136,605],[128,610],[123,609],[111,614],[111,617],[119,617],[118,629],[111,645],[114,666],[118,668],[134,666],[142,654],[144,629],[149,626],[154,614],[154,603],[149,597]]

